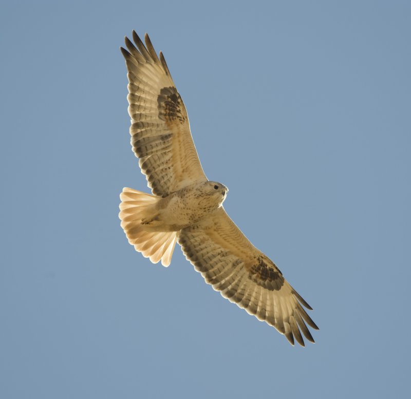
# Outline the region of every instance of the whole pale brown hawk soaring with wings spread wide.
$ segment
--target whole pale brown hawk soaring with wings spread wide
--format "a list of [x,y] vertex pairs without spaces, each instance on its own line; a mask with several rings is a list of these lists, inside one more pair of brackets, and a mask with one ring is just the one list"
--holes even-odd
[[304,346],[318,329],[275,263],[242,234],[222,203],[228,188],[209,181],[191,136],[184,103],[160,51],[146,34],[125,37],[131,144],[152,195],[120,194],[121,227],[136,251],[153,263],[171,262],[176,242],[214,290]]

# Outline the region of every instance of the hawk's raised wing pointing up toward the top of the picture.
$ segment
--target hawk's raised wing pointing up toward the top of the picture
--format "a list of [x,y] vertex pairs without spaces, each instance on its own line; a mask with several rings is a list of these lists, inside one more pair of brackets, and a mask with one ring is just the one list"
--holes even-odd
[[128,71],[131,143],[153,194],[166,197],[207,178],[164,56],[160,51],[158,58],[147,34],[144,39],[145,46],[133,31],[135,45],[126,37],[128,51],[121,47]]

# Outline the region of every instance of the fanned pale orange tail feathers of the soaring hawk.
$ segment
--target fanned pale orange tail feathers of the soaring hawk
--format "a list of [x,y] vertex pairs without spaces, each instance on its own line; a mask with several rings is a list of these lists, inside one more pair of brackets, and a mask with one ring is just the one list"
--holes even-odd
[[120,199],[119,217],[128,242],[153,263],[161,260],[163,266],[169,266],[179,232],[150,231],[150,225],[142,224],[143,219],[155,216],[153,205],[160,198],[126,187]]

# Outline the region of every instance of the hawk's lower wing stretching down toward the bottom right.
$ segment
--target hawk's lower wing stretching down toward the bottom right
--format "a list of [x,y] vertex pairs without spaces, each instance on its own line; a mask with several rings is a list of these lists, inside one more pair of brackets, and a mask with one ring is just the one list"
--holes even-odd
[[208,284],[240,308],[264,320],[304,346],[314,342],[305,323],[318,329],[303,309],[308,303],[290,286],[265,254],[258,251],[221,207],[196,225],[181,230],[185,257]]

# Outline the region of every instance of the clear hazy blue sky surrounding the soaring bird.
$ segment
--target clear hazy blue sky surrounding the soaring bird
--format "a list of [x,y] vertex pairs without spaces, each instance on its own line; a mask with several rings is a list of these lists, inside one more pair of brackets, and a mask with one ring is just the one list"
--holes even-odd
[[[408,397],[411,3],[11,2],[0,12],[0,397]],[[176,248],[127,243],[123,37],[148,32],[225,208],[314,308],[291,347]]]

